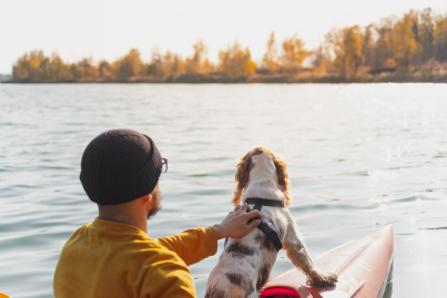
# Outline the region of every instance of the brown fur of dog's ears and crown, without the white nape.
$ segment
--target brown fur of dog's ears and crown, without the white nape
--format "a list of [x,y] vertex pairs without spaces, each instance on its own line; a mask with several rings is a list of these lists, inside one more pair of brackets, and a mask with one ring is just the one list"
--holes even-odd
[[286,198],[285,202],[286,206],[288,206],[288,204],[291,203],[291,195],[288,194],[289,182],[286,172],[286,164],[283,161],[281,161],[280,157],[273,154],[270,150],[264,147],[255,147],[251,150],[247,154],[245,154],[245,156],[242,157],[237,164],[237,172],[235,176],[236,187],[234,188],[234,195],[232,201],[233,205],[241,204],[242,194],[245,187],[248,185],[250,172],[254,167],[253,157],[261,155],[263,153],[266,154],[272,160],[276,168],[278,188]]

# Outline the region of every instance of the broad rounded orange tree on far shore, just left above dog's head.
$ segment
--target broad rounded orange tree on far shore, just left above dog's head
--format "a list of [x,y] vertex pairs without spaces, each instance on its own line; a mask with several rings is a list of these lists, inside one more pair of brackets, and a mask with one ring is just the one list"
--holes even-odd
[[253,74],[256,64],[252,61],[252,54],[248,48],[243,50],[241,44],[235,41],[233,45],[219,53],[220,69],[228,76],[240,76]]

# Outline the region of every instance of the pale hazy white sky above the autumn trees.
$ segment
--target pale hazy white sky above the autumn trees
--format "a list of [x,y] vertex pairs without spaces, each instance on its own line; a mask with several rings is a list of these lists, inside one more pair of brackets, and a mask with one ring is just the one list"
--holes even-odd
[[280,43],[297,33],[316,49],[333,28],[378,23],[410,9],[447,14],[446,0],[0,0],[0,73],[31,50],[67,62],[114,61],[131,48],[144,62],[158,49],[183,58],[202,40],[211,61],[238,41],[261,61],[272,31]]

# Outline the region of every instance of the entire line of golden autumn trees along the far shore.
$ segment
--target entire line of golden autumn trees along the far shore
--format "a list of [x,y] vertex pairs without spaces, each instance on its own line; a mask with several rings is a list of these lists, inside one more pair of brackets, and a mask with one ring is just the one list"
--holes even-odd
[[[308,51],[297,34],[280,44],[272,32],[258,65],[248,48],[237,41],[219,53],[219,62],[207,58],[203,41],[193,45],[193,54],[183,59],[172,51],[153,50],[149,62],[131,49],[124,56],[94,64],[92,59],[65,63],[59,54],[45,56],[31,51],[17,60],[12,81],[182,81],[195,78],[297,76],[308,61],[313,75],[355,78],[395,72],[405,75],[415,70],[439,69],[447,62],[447,17],[435,16],[431,9],[409,11],[402,18],[388,17],[366,27],[333,29],[318,49]],[[440,66],[439,66],[440,65]]]

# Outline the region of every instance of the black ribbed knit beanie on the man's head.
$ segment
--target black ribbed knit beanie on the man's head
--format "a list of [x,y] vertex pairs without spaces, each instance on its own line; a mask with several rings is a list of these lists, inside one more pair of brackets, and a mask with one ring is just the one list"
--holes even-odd
[[112,130],[87,146],[80,179],[91,201],[116,205],[152,193],[161,171],[162,157],[149,136]]

